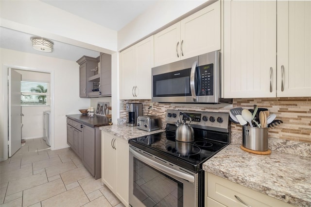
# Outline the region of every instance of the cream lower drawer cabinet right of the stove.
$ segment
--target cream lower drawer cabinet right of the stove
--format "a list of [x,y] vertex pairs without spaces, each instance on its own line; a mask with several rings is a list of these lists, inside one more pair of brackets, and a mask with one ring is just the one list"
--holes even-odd
[[245,207],[247,205],[251,207],[293,207],[225,178],[205,173],[205,207]]

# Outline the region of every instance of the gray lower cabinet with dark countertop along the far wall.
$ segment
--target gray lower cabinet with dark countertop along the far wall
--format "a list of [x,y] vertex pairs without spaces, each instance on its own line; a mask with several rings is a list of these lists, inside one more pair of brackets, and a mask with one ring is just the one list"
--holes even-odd
[[67,143],[95,177],[101,178],[101,130],[67,118]]

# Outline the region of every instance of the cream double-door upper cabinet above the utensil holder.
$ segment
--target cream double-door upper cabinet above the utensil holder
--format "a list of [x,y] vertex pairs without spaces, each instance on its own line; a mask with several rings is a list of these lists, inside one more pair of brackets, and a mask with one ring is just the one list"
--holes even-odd
[[311,96],[310,11],[311,1],[224,1],[224,98]]

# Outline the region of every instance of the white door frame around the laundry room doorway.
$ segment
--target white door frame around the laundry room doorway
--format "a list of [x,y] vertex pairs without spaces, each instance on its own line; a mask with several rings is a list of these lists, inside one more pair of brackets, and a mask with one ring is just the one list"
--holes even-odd
[[8,159],[8,70],[11,69],[19,69],[19,70],[29,70],[34,72],[45,72],[50,73],[50,107],[51,107],[51,138],[50,138],[50,144],[51,144],[51,150],[54,150],[54,71],[50,70],[40,70],[35,68],[29,68],[29,67],[22,67],[22,66],[12,66],[12,65],[3,65],[2,69],[2,123],[3,123],[3,132],[2,132],[2,138],[3,138],[3,160]]

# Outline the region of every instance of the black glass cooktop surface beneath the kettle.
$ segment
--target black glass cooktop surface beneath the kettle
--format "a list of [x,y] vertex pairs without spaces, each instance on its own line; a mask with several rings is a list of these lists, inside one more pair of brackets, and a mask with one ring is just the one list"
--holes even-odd
[[202,170],[202,164],[227,145],[208,138],[195,138],[192,142],[176,141],[172,132],[133,138],[129,143],[194,173]]

